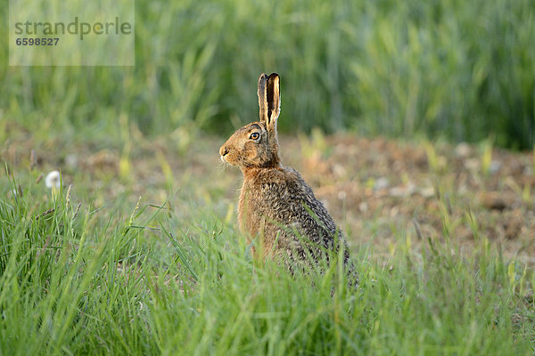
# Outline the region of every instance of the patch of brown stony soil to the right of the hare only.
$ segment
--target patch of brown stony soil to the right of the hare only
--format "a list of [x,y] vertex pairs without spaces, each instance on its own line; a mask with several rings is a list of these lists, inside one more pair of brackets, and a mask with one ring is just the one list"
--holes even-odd
[[[310,146],[284,143],[283,152]],[[388,251],[394,233],[406,231],[416,245],[448,234],[471,247],[479,236],[508,257],[535,263],[531,153],[349,135],[318,145],[327,153],[312,149],[287,161],[300,166],[335,220],[345,221],[351,243],[373,241],[378,251]]]

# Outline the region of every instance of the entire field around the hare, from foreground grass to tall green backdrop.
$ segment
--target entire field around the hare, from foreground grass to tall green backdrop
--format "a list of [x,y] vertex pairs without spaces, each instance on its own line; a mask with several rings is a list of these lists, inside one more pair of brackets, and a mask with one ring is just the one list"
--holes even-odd
[[[135,12],[135,67],[8,66],[0,36],[0,355],[534,354],[533,1]],[[218,148],[275,71],[357,287],[237,229]]]

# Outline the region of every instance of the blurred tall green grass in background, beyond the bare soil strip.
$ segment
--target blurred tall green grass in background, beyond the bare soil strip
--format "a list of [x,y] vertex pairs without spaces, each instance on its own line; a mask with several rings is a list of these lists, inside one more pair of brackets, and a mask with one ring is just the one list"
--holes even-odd
[[[7,12],[7,2],[0,7]],[[531,0],[139,0],[135,68],[4,67],[1,115],[73,136],[116,131],[125,116],[187,144],[199,130],[258,117],[256,80],[276,71],[283,131],[350,127],[472,142],[493,134],[500,146],[531,149],[533,37]]]

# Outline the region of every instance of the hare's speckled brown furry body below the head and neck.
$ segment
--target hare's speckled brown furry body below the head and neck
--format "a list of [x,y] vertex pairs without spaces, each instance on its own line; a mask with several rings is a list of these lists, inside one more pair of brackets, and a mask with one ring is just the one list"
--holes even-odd
[[[264,255],[288,255],[293,262],[315,260],[337,250],[337,231],[325,206],[292,167],[251,169],[238,204],[240,229],[259,236]],[[342,242],[342,247],[345,247]],[[344,251],[344,262],[347,260]]]

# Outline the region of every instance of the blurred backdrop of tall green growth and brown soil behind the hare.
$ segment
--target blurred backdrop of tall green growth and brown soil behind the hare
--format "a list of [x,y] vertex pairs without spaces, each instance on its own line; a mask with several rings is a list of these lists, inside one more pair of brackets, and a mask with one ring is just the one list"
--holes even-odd
[[242,174],[218,148],[258,119],[259,74],[277,72],[284,165],[351,247],[391,250],[412,222],[470,245],[474,215],[533,260],[532,0],[138,0],[135,34],[135,67],[7,67],[0,38],[0,154],[35,204],[58,170],[96,208],[143,197],[180,225],[234,226]]

